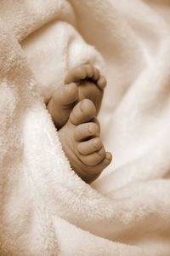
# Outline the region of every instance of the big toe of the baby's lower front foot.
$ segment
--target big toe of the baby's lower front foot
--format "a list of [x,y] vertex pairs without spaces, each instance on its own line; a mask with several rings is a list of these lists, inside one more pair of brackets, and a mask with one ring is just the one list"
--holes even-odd
[[72,109],[70,121],[73,125],[80,125],[93,119],[95,114],[96,108],[94,107],[94,103],[88,99],[84,99],[78,102]]

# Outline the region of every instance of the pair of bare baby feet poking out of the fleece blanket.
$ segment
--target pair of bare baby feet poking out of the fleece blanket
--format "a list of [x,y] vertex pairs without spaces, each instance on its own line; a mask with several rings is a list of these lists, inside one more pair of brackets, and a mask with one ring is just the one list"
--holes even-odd
[[72,169],[86,183],[99,177],[112,159],[105,152],[96,119],[105,85],[97,68],[76,67],[65,77],[65,86],[54,90],[47,106]]

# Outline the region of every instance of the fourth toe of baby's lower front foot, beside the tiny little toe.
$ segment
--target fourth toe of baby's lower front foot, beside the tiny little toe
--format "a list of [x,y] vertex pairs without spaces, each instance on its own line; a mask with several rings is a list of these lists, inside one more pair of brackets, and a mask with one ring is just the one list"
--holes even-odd
[[105,159],[105,148],[100,148],[93,154],[81,155],[80,159],[87,166],[96,166]]

